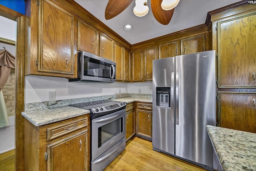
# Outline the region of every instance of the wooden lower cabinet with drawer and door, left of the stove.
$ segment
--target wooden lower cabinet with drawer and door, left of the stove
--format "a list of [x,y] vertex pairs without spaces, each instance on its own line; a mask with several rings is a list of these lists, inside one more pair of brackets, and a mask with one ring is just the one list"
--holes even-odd
[[90,118],[35,126],[25,119],[26,171],[89,171]]

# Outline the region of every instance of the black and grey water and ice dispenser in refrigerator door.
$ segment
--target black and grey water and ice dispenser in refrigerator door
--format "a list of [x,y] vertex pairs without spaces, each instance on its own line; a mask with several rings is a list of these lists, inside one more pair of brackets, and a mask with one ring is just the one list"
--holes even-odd
[[170,107],[171,87],[156,87],[156,107]]

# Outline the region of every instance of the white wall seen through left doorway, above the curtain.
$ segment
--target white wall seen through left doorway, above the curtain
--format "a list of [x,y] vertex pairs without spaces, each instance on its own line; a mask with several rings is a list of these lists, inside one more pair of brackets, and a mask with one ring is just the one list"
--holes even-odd
[[0,16],[0,37],[16,41],[16,21]]

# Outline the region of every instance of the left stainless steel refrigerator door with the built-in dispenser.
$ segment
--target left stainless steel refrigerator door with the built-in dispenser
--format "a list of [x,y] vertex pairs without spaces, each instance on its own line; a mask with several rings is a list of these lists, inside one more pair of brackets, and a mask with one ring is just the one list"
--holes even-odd
[[174,57],[153,61],[152,145],[170,154],[174,154],[174,62]]

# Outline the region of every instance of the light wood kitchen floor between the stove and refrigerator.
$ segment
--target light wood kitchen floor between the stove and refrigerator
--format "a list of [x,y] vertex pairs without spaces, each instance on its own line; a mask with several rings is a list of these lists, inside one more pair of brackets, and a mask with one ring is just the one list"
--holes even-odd
[[133,137],[104,171],[205,171],[201,167],[152,150],[152,142]]

